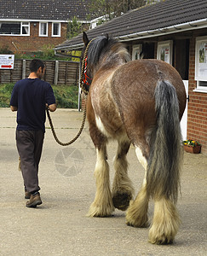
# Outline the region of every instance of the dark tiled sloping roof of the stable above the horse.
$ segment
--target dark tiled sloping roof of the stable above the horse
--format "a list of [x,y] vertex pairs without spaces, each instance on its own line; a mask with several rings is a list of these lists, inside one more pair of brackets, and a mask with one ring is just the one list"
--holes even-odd
[[[87,32],[89,38],[108,33],[121,41],[133,39],[135,34],[163,30],[170,26],[179,26],[195,20],[205,20],[207,25],[207,0],[165,0],[129,11]],[[191,24],[189,24],[189,27]],[[177,32],[179,27],[177,28]],[[167,32],[167,31],[165,31]],[[78,49],[82,44],[82,35],[72,38],[59,47]]]

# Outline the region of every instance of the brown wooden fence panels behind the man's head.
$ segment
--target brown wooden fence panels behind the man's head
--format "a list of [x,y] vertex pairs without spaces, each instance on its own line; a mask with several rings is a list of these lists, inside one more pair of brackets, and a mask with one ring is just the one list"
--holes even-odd
[[[0,84],[15,83],[20,79],[26,78],[30,73],[29,65],[31,60],[26,60],[26,67],[23,70],[23,60],[14,61],[14,69],[6,70],[0,69]],[[55,73],[55,61],[44,61],[46,65],[46,72],[43,80],[49,82],[49,84],[66,84],[66,85],[78,85],[79,79],[79,62],[74,61],[58,61]],[[55,79],[55,75],[57,78]]]

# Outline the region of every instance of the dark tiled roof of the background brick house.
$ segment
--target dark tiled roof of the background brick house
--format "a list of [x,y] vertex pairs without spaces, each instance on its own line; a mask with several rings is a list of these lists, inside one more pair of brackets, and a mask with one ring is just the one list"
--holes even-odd
[[89,0],[0,0],[0,20],[86,20]]

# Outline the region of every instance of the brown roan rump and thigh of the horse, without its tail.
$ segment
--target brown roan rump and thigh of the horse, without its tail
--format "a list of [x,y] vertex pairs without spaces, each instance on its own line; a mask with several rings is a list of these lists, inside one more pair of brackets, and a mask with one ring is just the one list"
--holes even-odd
[[175,87],[181,119],[186,105],[185,88],[179,73],[170,64],[158,60],[130,61],[113,74],[112,96],[132,143],[157,125],[154,93],[162,80]]

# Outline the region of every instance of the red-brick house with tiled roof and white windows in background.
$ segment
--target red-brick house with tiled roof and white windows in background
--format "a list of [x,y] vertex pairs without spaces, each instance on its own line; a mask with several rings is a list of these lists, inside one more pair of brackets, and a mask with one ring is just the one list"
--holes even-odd
[[0,49],[32,52],[66,41],[74,16],[88,23],[89,0],[1,0]]

